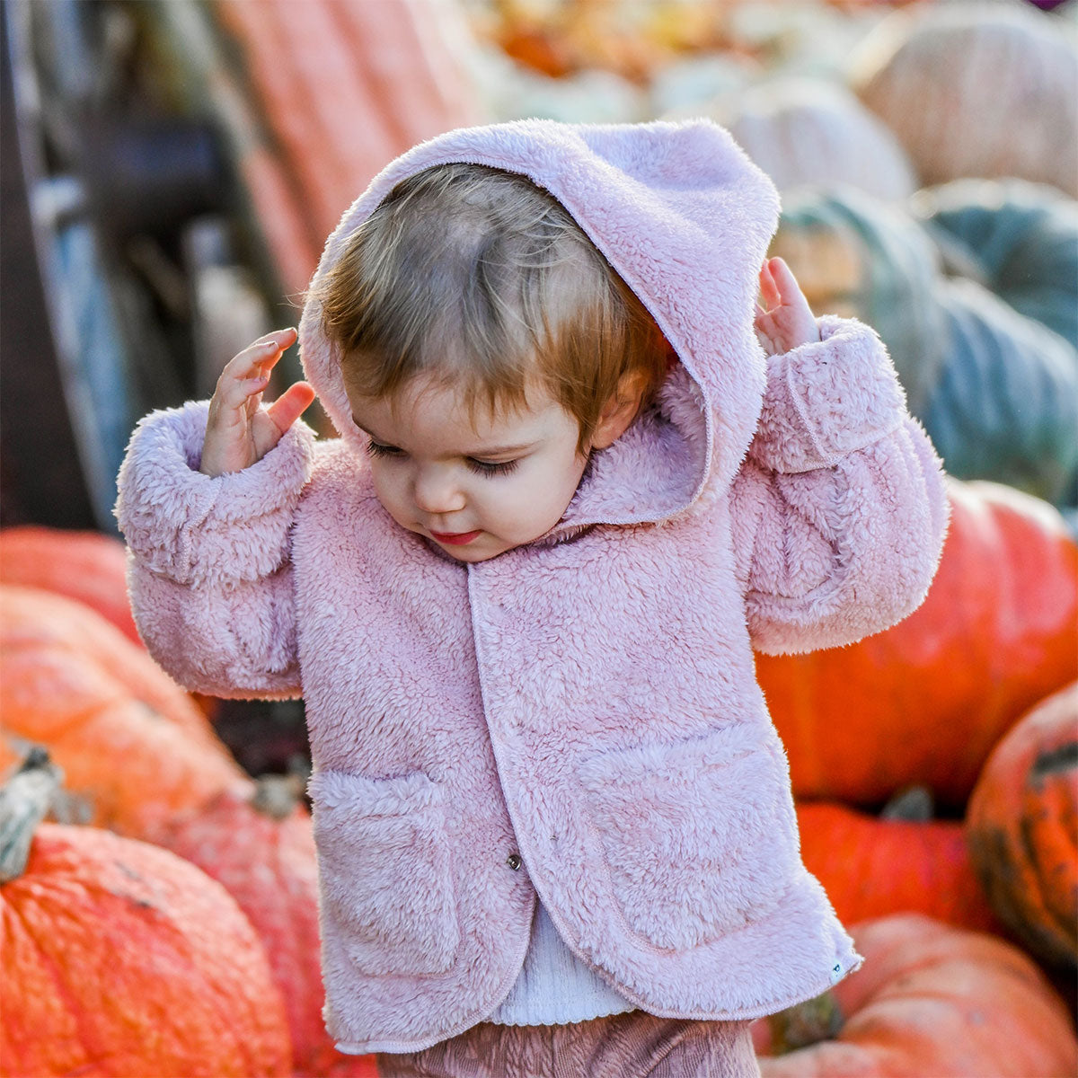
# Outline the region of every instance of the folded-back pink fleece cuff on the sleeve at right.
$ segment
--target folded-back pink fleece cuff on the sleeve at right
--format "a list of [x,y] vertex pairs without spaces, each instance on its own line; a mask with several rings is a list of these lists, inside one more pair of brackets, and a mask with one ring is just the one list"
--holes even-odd
[[776,472],[838,464],[896,430],[906,395],[875,331],[819,319],[820,340],[768,360],[768,388],[749,459]]

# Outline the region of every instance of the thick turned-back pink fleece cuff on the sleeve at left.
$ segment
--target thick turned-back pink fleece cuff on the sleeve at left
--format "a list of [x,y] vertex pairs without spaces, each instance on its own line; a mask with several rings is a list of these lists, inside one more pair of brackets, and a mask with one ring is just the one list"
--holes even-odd
[[127,545],[181,584],[255,580],[288,556],[289,528],[310,476],[315,433],[302,420],[239,472],[199,472],[208,401],[151,412],[120,468],[115,515]]

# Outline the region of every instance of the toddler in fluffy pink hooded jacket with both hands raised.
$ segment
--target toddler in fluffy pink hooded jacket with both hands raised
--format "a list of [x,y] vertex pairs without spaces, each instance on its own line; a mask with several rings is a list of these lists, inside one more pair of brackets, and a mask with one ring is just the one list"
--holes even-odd
[[908,614],[946,500],[777,210],[706,121],[451,132],[330,237],[309,384],[261,405],[271,333],[132,440],[147,645],[304,696],[324,1018],[383,1075],[743,1078],[860,960],[752,651]]

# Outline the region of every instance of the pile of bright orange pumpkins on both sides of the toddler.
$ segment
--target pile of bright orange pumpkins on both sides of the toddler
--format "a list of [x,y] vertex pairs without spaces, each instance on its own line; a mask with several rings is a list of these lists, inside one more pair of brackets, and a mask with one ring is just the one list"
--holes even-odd
[[[765,1075],[1078,1064],[1061,998],[1078,969],[1078,544],[1029,495],[957,480],[949,490],[951,530],[920,610],[847,648],[757,657],[805,863],[868,959],[832,993],[757,1023],[758,1050],[774,1053]],[[46,572],[36,550],[80,571]],[[101,535],[0,530],[0,766],[15,776],[0,806],[37,790],[37,807],[13,814],[17,841],[0,819],[0,848],[29,855],[0,889],[0,946],[15,956],[0,1064],[371,1076],[321,1021],[302,782],[244,773],[205,710],[125,635],[123,561]],[[58,823],[34,831],[43,806]],[[78,906],[57,912],[49,896],[60,894]],[[199,950],[198,918],[222,926],[218,962],[232,975]],[[34,927],[52,921],[67,927]],[[166,967],[183,972],[157,976]],[[227,980],[237,968],[243,992]],[[98,972],[57,980],[74,969]],[[209,1009],[216,1024],[199,1028],[239,1036],[204,1052],[190,1028]],[[171,1024],[151,1035],[147,1015],[164,1013]],[[57,1022],[78,1031],[63,1051],[38,1036]]]

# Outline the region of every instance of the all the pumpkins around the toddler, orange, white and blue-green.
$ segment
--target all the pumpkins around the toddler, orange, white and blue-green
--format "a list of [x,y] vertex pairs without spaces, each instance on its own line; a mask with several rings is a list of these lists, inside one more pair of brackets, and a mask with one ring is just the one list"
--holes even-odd
[[[138,17],[171,93],[218,120],[282,293],[374,171],[439,130],[732,129],[783,192],[772,253],[815,310],[880,332],[953,476],[913,614],[757,657],[805,865],[866,958],[755,1023],[761,1070],[1073,1078],[1078,47],[1022,0],[896,6],[216,0]],[[124,565],[101,535],[0,530],[0,1072],[373,1076],[321,1020],[302,779],[248,774],[213,702],[150,660]]]

